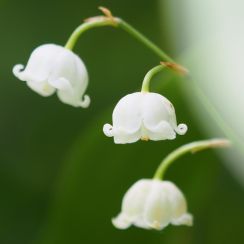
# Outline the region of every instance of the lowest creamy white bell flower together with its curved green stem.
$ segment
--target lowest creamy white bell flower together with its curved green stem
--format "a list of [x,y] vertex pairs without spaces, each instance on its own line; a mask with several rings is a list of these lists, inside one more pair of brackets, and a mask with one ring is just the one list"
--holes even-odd
[[193,217],[187,212],[183,193],[174,183],[163,180],[164,174],[187,152],[228,145],[228,140],[215,139],[189,143],[173,151],[162,161],[152,179],[139,180],[126,192],[121,213],[112,219],[114,226],[126,229],[134,225],[155,230],[162,230],[169,224],[191,226]]

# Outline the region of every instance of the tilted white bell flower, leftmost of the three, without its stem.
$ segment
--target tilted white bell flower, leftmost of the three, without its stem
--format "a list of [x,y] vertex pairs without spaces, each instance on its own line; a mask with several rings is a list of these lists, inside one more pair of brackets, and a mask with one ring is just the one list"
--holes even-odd
[[27,66],[13,68],[14,75],[42,96],[55,91],[59,99],[74,107],[88,107],[89,96],[85,95],[88,73],[82,60],[72,51],[55,44],[37,47],[31,54]]

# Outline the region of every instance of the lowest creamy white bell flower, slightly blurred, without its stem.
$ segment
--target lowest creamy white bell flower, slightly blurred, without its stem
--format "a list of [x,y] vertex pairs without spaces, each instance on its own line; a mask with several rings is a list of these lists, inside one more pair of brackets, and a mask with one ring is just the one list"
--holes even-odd
[[118,229],[135,225],[162,230],[169,224],[191,226],[193,217],[181,191],[169,181],[142,179],[125,194],[121,213],[112,220]]

